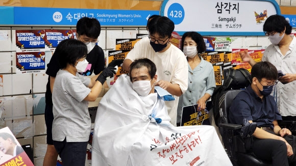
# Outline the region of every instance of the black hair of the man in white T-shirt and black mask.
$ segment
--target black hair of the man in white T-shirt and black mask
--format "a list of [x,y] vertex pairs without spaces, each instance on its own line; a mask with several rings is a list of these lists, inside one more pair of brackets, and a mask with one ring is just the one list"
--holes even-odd
[[148,29],[151,35],[158,34],[161,38],[165,38],[174,31],[175,24],[169,18],[160,16],[153,18],[148,23]]

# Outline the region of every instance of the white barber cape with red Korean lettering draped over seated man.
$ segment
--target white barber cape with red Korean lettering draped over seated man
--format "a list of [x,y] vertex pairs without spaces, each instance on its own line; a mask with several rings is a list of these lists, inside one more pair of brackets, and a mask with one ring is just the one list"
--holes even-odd
[[119,76],[97,107],[92,165],[232,165],[213,126],[169,121],[157,93],[141,97]]

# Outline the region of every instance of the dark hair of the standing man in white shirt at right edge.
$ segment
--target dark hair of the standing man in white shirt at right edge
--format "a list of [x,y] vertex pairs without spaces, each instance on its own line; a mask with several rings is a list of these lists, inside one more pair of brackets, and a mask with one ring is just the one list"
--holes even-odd
[[285,19],[284,16],[271,15],[269,16],[263,24],[263,31],[266,32],[278,32],[281,33],[285,30],[285,34],[290,35],[292,32],[292,26]]

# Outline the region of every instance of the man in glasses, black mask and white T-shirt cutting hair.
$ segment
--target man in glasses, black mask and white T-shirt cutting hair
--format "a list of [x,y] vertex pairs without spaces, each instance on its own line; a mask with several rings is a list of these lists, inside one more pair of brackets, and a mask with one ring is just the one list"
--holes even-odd
[[[138,41],[128,53],[123,68],[130,70],[130,64],[136,59],[147,58],[155,63],[159,81],[155,86],[167,90],[175,101],[165,101],[170,123],[177,125],[177,107],[179,96],[188,87],[188,68],[184,53],[170,43],[175,24],[169,18],[160,16],[148,23],[149,37]],[[191,82],[190,82],[191,83]]]

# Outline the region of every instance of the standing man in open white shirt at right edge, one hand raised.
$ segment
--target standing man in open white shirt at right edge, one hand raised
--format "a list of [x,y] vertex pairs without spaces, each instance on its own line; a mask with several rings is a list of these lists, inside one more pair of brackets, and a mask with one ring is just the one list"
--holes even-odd
[[[272,63],[285,74],[278,78],[279,84],[275,86],[272,95],[277,101],[282,119],[296,121],[296,38],[290,35],[292,27],[285,17],[272,15],[266,19],[263,31],[272,44],[265,49],[262,61]],[[256,64],[248,51],[241,53],[240,57],[251,66]]]

